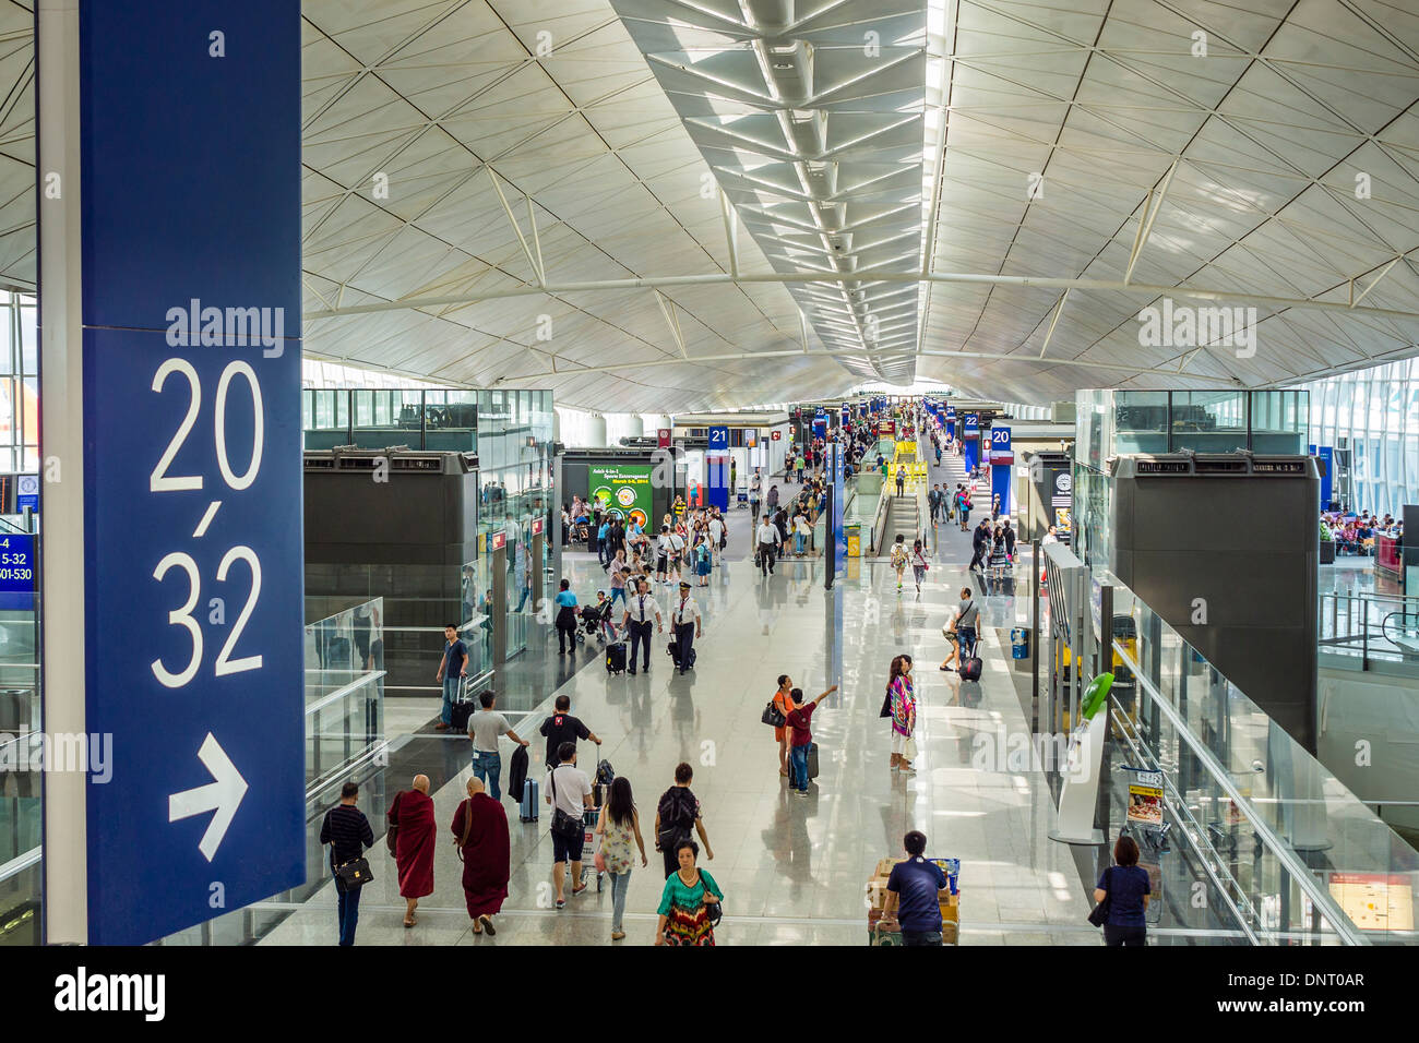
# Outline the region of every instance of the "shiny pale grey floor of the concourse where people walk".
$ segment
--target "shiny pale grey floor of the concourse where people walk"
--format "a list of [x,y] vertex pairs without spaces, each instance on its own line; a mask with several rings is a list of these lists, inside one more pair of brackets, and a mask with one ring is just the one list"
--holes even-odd
[[[949,478],[954,487],[959,465],[949,458],[939,473],[932,468],[932,481]],[[1090,903],[1070,849],[1046,837],[1051,805],[1043,778],[993,771],[983,754],[996,748],[996,735],[1027,731],[1009,675],[1009,650],[989,640],[993,629],[1023,616],[1027,602],[1022,599],[1017,610],[1009,592],[985,599],[982,681],[962,683],[939,673],[946,649],[941,626],[956,592],[962,582],[979,586],[965,570],[968,534],[949,526],[939,532],[938,565],[920,595],[910,575],[898,595],[885,563],[850,562],[827,593],[816,562],[783,562],[775,576],[761,579],[751,562],[731,561],[715,570],[708,589],[695,592],[705,616],[695,670],[678,675],[664,653],[666,639],[657,636],[648,674],[609,677],[589,643],[561,657],[541,705],[519,715],[514,728],[535,735],[553,697],[570,695],[572,712],[604,739],[600,751],[580,745],[583,766],[595,765],[599,755],[630,778],[647,846],[658,795],[671,783],[677,763],[692,765],[692,789],[714,847],[714,859],[701,864],[725,891],[725,918],[717,931],[721,945],[864,944],[866,880],[878,859],[900,856],[908,829],[927,833],[929,854],[962,861],[962,945],[1097,945],[1098,932],[1084,920]],[[603,583],[592,558],[569,555],[566,568],[583,600]],[[660,599],[664,609],[666,589]],[[558,660],[555,631],[538,630],[526,656]],[[917,663],[921,710],[914,775],[888,768],[888,724],[878,718],[888,663],[900,651]],[[807,799],[789,793],[778,773],[772,731],[759,721],[783,673],[810,697],[840,685],[813,718],[822,766]],[[392,704],[389,721],[413,729],[420,719],[429,721],[434,705]],[[420,742],[440,751],[448,768],[436,775],[434,793],[447,829],[464,795],[467,745],[460,738],[426,741],[423,734]],[[505,746],[504,780],[509,754]],[[529,754],[541,778],[542,742],[534,741]],[[417,766],[403,763],[406,773]],[[393,778],[393,771],[385,780],[387,790],[407,788],[410,779]],[[512,830],[512,880],[497,938],[471,934],[461,867],[448,841],[438,846],[436,887],[420,903],[420,922],[404,929],[393,860],[380,843],[370,853],[376,880],[360,904],[358,944],[610,944],[610,891],[593,887],[565,910],[551,908],[548,815],[522,824],[517,805],[505,798],[504,806]],[[653,941],[663,876],[650,854],[650,867],[631,877],[623,945]],[[333,944],[333,888],[325,887],[265,944]]]

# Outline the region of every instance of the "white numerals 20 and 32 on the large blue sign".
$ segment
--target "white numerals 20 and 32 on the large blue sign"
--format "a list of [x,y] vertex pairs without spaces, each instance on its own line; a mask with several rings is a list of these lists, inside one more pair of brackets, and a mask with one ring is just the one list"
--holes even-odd
[[[153,375],[152,389],[162,394],[167,379],[175,375],[187,382],[187,413],[177,426],[177,431],[173,434],[172,441],[167,443],[166,451],[153,465],[153,471],[148,478],[148,488],[152,492],[176,492],[203,488],[203,478],[200,474],[167,474],[167,470],[172,467],[172,463],[182,450],[187,436],[192,434],[192,429],[196,426],[197,417],[201,413],[201,382],[197,379],[197,370],[186,359],[167,359],[163,362]],[[251,427],[251,463],[247,464],[247,470],[243,474],[233,473],[231,461],[227,457],[227,393],[233,380],[238,377],[244,380],[251,390],[251,409],[254,413]],[[241,491],[250,487],[251,482],[255,481],[257,474],[261,471],[261,448],[265,429],[261,409],[261,382],[257,380],[257,375],[248,363],[241,360],[231,362],[221,372],[221,379],[217,382],[213,420],[213,441],[221,480],[228,488]],[[220,507],[220,500],[213,500],[209,504],[207,512],[203,515],[197,529],[193,532],[193,538],[200,538],[207,531],[207,526],[211,524],[211,519],[216,517]],[[217,566],[217,582],[224,583],[227,580],[227,573],[236,562],[245,562],[248,570],[251,572],[251,589],[247,593],[247,603],[243,606],[241,614],[237,616],[237,622],[231,627],[231,633],[227,636],[226,644],[223,644],[221,651],[217,653],[217,660],[213,668],[216,677],[237,674],[243,670],[261,668],[260,656],[233,658],[241,631],[245,627],[247,620],[251,619],[251,613],[257,607],[257,600],[261,596],[261,561],[257,558],[257,552],[250,546],[237,545],[223,555],[221,563]],[[201,576],[197,573],[197,562],[192,555],[184,551],[173,551],[163,555],[162,561],[159,561],[156,568],[153,568],[153,579],[162,583],[163,576],[166,576],[172,569],[180,569],[187,573],[187,600],[183,602],[182,607],[173,609],[167,613],[167,623],[170,626],[183,627],[192,636],[192,656],[186,666],[177,671],[169,670],[163,666],[160,658],[153,660],[150,666],[153,677],[158,678],[159,684],[166,688],[182,688],[193,677],[196,677],[197,670],[201,666],[201,624],[192,616],[193,609],[196,609],[197,603],[201,600]]]

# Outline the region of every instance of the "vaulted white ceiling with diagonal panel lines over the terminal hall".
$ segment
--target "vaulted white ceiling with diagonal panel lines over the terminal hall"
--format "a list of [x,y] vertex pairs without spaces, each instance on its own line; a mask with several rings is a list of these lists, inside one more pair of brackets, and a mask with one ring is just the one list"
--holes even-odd
[[[660,413],[832,397],[877,373],[1030,403],[1419,353],[1413,4],[616,3],[634,33],[612,0],[302,4],[309,352]],[[0,281],[16,287],[34,282],[31,18],[0,0]],[[883,20],[891,72],[858,71],[890,89],[843,72],[847,30]],[[832,311],[851,312],[851,280],[826,270],[822,237],[769,220],[809,213],[786,180],[807,152],[775,155],[761,133],[790,104],[772,72],[752,89],[744,55],[788,38],[813,43],[819,85],[840,91],[809,99],[829,112],[826,152],[856,118],[900,123],[877,125],[880,152],[826,159],[840,177],[907,172],[891,199],[920,207],[917,260],[910,244],[873,254],[871,288],[910,302],[921,287],[900,312],[915,336],[844,332]],[[898,82],[918,68],[920,92]],[[762,152],[727,140],[729,123]],[[902,143],[918,125],[924,155]],[[1253,358],[1139,345],[1139,308],[1208,304],[1200,291],[1257,308]]]

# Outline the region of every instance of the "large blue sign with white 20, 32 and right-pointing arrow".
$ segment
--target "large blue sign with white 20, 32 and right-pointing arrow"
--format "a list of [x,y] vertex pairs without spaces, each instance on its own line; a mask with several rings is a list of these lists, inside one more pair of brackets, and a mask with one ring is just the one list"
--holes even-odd
[[92,944],[305,880],[299,47],[287,0],[81,4]]

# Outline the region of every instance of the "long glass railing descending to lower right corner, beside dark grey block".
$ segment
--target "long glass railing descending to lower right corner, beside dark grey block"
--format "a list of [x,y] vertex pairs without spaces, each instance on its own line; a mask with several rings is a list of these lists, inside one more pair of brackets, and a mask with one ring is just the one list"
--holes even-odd
[[1408,944],[1419,853],[1131,590],[1137,729],[1266,944]]

